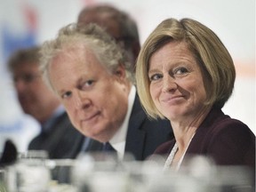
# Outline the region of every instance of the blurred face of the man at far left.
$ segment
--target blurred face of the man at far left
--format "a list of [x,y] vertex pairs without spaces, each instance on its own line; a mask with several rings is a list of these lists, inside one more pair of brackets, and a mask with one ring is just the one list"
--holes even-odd
[[44,122],[59,106],[58,98],[44,84],[36,63],[23,62],[12,71],[13,82],[23,111]]

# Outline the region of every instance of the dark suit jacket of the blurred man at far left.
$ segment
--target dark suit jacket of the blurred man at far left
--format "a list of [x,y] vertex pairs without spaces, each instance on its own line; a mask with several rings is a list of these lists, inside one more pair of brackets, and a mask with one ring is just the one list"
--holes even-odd
[[83,140],[84,135],[74,128],[65,112],[48,132],[41,132],[31,140],[28,149],[46,150],[51,159],[76,158]]

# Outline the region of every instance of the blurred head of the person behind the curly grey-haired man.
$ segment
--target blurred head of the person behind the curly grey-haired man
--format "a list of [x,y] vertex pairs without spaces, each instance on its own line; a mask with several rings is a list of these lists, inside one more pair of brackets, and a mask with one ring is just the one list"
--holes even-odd
[[84,7],[78,15],[77,23],[96,23],[106,29],[124,48],[126,57],[134,69],[140,52],[140,36],[136,22],[129,14],[110,4],[94,4]]

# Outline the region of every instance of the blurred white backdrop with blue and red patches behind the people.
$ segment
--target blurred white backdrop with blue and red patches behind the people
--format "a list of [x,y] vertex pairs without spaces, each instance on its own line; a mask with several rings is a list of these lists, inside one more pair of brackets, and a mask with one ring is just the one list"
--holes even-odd
[[0,140],[11,135],[16,142],[25,142],[19,149],[24,150],[26,141],[12,133],[25,132],[27,140],[38,132],[36,122],[22,113],[13,91],[6,69],[10,54],[55,37],[61,27],[76,21],[84,6],[97,3],[113,4],[129,13],[138,22],[141,44],[170,17],[189,17],[212,28],[236,65],[235,91],[223,110],[256,132],[255,0],[0,0]]

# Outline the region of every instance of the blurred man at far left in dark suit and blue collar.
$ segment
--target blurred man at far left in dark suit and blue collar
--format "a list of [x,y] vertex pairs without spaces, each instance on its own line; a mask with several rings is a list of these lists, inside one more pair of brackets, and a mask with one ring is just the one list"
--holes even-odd
[[38,46],[20,49],[8,62],[21,108],[41,124],[41,132],[31,140],[28,149],[45,150],[50,158],[75,158],[84,135],[76,131],[60,100],[44,84],[39,50]]

